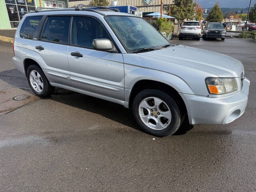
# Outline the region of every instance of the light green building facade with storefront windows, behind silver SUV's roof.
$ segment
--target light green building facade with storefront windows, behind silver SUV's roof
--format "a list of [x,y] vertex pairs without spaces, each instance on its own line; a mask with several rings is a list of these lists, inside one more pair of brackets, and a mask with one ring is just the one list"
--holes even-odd
[[68,8],[68,0],[0,0],[0,29],[17,28],[22,17],[36,7]]

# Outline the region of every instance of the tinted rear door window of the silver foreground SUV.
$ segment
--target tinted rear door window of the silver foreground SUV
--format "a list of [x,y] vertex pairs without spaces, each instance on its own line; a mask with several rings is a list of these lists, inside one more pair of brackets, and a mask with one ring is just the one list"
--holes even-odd
[[68,44],[68,31],[71,16],[49,16],[44,25],[41,40]]

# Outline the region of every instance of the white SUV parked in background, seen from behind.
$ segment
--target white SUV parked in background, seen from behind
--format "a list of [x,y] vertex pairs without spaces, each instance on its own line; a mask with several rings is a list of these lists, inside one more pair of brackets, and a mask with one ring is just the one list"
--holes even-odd
[[199,21],[185,21],[180,26],[179,40],[183,38],[195,38],[200,40],[201,37],[201,25]]

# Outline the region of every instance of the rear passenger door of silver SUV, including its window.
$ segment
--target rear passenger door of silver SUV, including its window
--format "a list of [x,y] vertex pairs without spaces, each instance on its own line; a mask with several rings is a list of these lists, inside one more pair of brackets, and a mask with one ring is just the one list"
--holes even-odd
[[48,16],[36,41],[34,57],[50,82],[69,85],[68,35],[71,16]]

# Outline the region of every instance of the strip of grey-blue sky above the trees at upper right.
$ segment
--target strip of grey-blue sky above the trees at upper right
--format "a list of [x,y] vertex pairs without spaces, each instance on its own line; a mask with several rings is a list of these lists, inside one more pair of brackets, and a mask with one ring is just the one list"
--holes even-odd
[[[216,2],[219,2],[220,7],[223,8],[246,8],[249,7],[250,0],[198,0],[203,8],[213,7]],[[255,4],[256,0],[252,0],[251,6]]]

